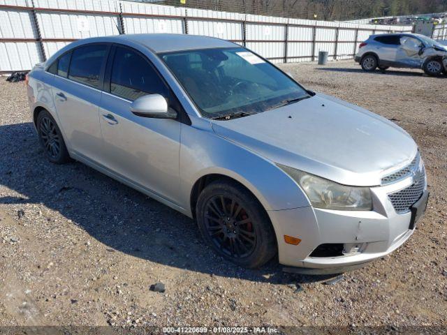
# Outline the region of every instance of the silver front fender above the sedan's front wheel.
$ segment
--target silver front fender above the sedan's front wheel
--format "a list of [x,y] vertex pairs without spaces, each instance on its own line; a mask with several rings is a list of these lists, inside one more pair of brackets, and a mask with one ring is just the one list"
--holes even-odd
[[[212,131],[210,121],[193,118],[193,124],[200,126],[182,125],[179,195],[182,207],[191,211],[193,186],[207,174],[223,174],[240,182],[265,210],[310,205],[298,184],[274,162],[219,137]],[[199,142],[200,146],[196,145]]]

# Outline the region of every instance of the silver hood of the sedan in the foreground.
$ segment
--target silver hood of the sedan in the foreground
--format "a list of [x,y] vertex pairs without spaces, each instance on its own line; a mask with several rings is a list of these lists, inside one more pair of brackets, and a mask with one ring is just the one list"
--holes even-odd
[[[217,135],[280,163],[353,186],[375,186],[417,146],[393,122],[337,98],[312,98],[248,117],[212,120]],[[256,167],[254,167],[256,168]]]

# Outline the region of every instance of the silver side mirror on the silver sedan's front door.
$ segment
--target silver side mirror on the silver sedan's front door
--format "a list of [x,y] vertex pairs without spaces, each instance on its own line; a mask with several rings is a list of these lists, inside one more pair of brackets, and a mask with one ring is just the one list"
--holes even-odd
[[160,94],[141,96],[131,104],[131,112],[138,117],[154,119],[175,119],[177,112],[168,108],[168,103]]

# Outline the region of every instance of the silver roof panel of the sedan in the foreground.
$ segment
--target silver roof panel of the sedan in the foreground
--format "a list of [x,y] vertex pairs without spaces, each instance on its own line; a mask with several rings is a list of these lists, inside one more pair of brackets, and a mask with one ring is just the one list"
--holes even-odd
[[129,40],[149,47],[149,49],[157,53],[237,46],[235,43],[219,38],[186,34],[129,34],[109,37],[109,40],[115,39],[117,43],[122,40]]

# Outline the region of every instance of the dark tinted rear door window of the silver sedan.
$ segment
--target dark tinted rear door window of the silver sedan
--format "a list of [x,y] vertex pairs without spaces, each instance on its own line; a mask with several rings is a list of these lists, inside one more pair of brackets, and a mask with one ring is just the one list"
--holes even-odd
[[73,50],[68,78],[98,88],[101,67],[107,50],[107,45],[95,44]]

